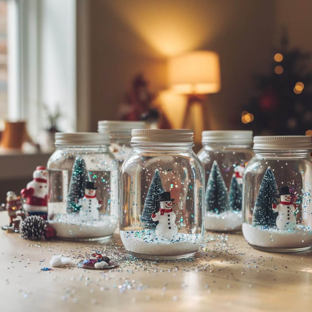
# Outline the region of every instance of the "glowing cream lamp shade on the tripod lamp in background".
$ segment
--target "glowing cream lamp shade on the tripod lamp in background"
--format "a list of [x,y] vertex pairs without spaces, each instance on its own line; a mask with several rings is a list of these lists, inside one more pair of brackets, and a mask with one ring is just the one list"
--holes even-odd
[[171,58],[168,75],[171,88],[179,94],[208,94],[221,89],[219,56],[212,51]]

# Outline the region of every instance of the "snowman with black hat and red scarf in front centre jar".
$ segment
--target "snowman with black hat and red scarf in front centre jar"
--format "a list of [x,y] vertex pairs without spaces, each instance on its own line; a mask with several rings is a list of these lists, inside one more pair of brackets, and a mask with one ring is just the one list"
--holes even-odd
[[175,225],[176,214],[172,210],[173,198],[170,198],[170,192],[159,194],[160,209],[152,214],[152,220],[158,221],[155,228],[155,234],[159,239],[172,240],[178,233]]

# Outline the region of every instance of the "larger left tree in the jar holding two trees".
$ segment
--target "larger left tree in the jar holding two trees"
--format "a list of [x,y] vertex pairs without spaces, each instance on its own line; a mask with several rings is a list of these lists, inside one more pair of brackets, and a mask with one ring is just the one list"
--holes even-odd
[[212,163],[205,194],[206,211],[220,213],[229,209],[227,187],[216,161]]

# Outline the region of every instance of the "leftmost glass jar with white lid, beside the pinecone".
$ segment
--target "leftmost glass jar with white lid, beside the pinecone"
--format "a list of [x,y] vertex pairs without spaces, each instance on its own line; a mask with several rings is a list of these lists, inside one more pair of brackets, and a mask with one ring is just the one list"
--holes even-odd
[[109,135],[56,133],[48,160],[48,221],[70,240],[110,237],[118,224],[118,161]]

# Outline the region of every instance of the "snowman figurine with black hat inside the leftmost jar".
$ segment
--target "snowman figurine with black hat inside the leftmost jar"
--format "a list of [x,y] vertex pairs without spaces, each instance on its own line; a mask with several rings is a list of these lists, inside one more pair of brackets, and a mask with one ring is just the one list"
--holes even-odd
[[85,185],[85,196],[79,199],[79,216],[84,221],[99,218],[99,208],[102,204],[96,198],[96,189],[94,182],[87,182]]

